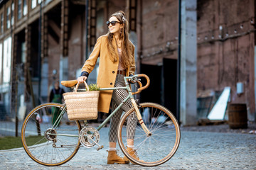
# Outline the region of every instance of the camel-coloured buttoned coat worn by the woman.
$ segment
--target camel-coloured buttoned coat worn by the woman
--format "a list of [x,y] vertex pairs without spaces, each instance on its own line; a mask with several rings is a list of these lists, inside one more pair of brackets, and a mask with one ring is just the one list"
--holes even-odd
[[[115,50],[115,54],[112,55],[117,55],[117,62],[112,62],[112,60],[110,60],[110,54],[107,50],[107,35],[102,35],[100,38],[97,39],[97,42],[92,50],[92,53],[90,54],[90,57],[88,58],[88,60],[86,60],[85,64],[82,67],[82,72],[88,72],[90,74],[90,72],[92,72],[92,69],[94,69],[95,67],[97,58],[100,57],[99,72],[97,77],[97,86],[100,86],[100,88],[114,87],[114,82],[117,76],[117,68],[119,64],[117,43],[115,41],[115,38],[112,40],[112,44]],[[127,76],[129,76],[130,74],[134,74],[135,72],[134,45],[132,45],[131,47],[132,65],[127,68]],[[109,113],[112,92],[113,91],[100,91],[98,111]]]

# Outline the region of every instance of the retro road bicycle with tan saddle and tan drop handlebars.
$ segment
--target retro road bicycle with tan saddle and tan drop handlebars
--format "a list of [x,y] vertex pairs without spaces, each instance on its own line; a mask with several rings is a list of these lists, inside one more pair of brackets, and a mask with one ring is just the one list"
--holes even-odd
[[[139,77],[146,78],[145,86],[142,86]],[[139,89],[136,92],[132,92],[129,79],[139,84]],[[117,138],[120,149],[131,162],[142,166],[157,166],[171,159],[181,140],[181,132],[176,118],[164,106],[156,103],[138,103],[134,99],[134,94],[138,94],[149,86],[149,77],[145,74],[124,77],[124,81],[124,87],[100,89],[100,91],[125,89],[129,95],[97,128],[90,126],[87,120],[73,120],[60,124],[60,120],[67,114],[65,103],[44,103],[33,108],[26,116],[21,129],[22,144],[28,156],[39,164],[58,166],[72,159],[80,147],[97,146],[97,150],[102,149],[103,146],[99,144],[99,130],[106,125],[124,102],[131,99],[133,108],[122,115],[118,125]],[[73,88],[77,84],[77,80],[62,81],[61,83]],[[50,114],[50,111],[53,110],[60,113],[54,125],[43,123],[43,115]],[[126,149],[127,121],[129,115],[133,113],[137,115],[134,148],[139,159],[129,154]]]

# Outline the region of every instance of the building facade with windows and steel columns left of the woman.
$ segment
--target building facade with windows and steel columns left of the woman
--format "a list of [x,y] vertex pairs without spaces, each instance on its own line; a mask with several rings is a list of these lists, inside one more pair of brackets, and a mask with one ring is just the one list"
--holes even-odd
[[[110,13],[136,15],[135,5],[132,0],[0,1],[1,119],[14,118],[21,106],[29,111],[47,102],[53,81],[76,79],[97,38],[107,33]],[[135,27],[133,21],[131,30]],[[136,34],[131,36],[136,45]]]

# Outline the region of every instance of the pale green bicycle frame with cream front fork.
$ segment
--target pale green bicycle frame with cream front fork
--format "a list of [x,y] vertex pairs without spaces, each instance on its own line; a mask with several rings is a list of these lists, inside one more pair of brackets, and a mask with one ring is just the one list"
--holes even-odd
[[[132,101],[132,105],[134,106],[135,108],[135,113],[137,115],[137,118],[139,120],[139,123],[142,125],[142,128],[144,130],[144,132],[146,132],[146,135],[147,136],[150,136],[151,135],[151,132],[149,132],[148,128],[146,128],[146,125],[144,124],[143,120],[142,120],[142,115],[141,113],[139,112],[139,108],[137,106],[137,103],[134,99],[134,96],[132,95],[132,89],[131,87],[129,86],[129,83],[127,81],[127,79],[132,79],[134,77],[138,77],[138,75],[134,75],[133,77],[124,77],[124,82],[125,82],[125,86],[124,87],[113,87],[113,88],[101,88],[100,91],[108,91],[108,90],[117,90],[117,89],[124,89],[124,90],[127,90],[128,91],[128,96],[127,98],[125,98],[120,104],[119,106],[117,106],[117,108],[112,112],[110,113],[110,115],[99,125],[99,127],[97,128],[97,130],[100,130],[103,126],[105,126],[105,124],[110,120],[110,118],[112,118],[112,116],[119,110],[119,108],[121,108],[124,103],[126,101],[129,100],[129,98],[131,99]],[[85,89],[80,89],[79,91],[85,91]],[[62,111],[60,112],[60,115],[58,116],[57,120],[55,121],[55,123],[53,124],[53,128],[56,128],[56,126],[60,123],[60,120],[61,118],[63,117],[64,115],[64,111],[65,111],[65,108],[66,106],[64,105],[63,106],[63,109]],[[61,134],[58,134],[58,135],[61,135]],[[65,135],[65,136],[68,136],[68,135]]]

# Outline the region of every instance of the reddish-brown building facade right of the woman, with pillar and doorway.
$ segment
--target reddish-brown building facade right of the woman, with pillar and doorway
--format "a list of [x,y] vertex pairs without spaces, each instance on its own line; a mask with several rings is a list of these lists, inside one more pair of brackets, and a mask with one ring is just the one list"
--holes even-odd
[[[138,34],[138,39],[142,38],[139,57],[142,64],[141,72],[146,72],[155,80],[151,86],[157,89],[152,90],[156,96],[154,102],[162,103],[176,113],[178,1],[141,3],[143,29],[142,35]],[[189,3],[193,1],[181,1],[181,13],[189,13],[187,18],[181,14],[181,20],[186,20],[181,21],[181,32],[184,32],[181,39],[186,39],[181,40],[181,53],[192,55],[191,49],[194,48],[191,47],[191,43],[196,44],[196,66],[192,60],[186,59],[188,67],[183,68],[183,65],[181,69],[196,69],[198,97],[202,91],[205,94],[208,91],[215,91],[215,94],[218,94],[225,86],[230,86],[229,103],[246,103],[248,119],[255,120],[255,1],[194,1],[196,28],[188,23],[193,22],[193,8]],[[186,41],[191,42],[186,44]],[[151,72],[152,69],[154,72]],[[189,77],[183,79],[188,80],[186,84],[191,81]],[[237,89],[238,84],[242,84],[242,93]],[[193,93],[193,90],[188,87],[186,93]],[[181,99],[181,108],[182,103],[186,103],[186,100]],[[209,108],[213,104],[212,101]],[[191,103],[185,105],[189,106]],[[197,106],[200,107],[202,106]],[[191,111],[187,110],[186,114],[189,112]],[[200,118],[200,115],[196,117]]]

